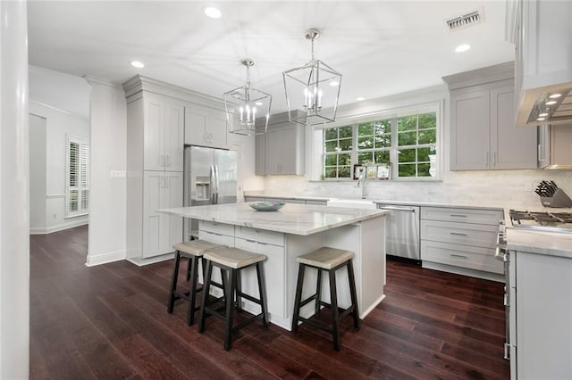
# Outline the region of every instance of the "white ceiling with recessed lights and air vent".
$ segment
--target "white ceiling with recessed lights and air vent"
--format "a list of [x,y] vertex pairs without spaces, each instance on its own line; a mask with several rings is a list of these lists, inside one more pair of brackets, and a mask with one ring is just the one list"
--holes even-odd
[[[220,19],[206,17],[215,4]],[[479,10],[483,21],[450,31],[446,20]],[[246,81],[286,110],[282,71],[310,59],[304,32],[321,30],[315,58],[343,74],[340,103],[442,84],[442,76],[514,60],[505,2],[481,1],[34,1],[29,63],[122,84],[136,74],[206,95]],[[467,43],[472,48],[455,53]],[[144,69],[130,61],[145,62]]]

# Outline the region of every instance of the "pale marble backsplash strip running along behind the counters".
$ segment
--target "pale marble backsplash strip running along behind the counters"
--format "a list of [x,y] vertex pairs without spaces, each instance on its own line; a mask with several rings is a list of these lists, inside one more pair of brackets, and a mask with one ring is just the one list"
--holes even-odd
[[[366,182],[366,199],[445,204],[482,204],[484,207],[537,209],[542,207],[534,189],[542,180],[553,180],[572,197],[572,170],[474,170],[449,171],[442,181]],[[361,198],[357,181],[307,181],[304,176],[266,176],[265,194]]]

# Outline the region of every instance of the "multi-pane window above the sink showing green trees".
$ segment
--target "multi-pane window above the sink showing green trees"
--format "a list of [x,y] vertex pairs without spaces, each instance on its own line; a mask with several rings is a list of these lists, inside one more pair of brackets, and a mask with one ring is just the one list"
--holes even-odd
[[319,139],[324,142],[323,178],[352,178],[355,164],[388,162],[392,178],[435,177],[436,110],[434,105],[320,130]]

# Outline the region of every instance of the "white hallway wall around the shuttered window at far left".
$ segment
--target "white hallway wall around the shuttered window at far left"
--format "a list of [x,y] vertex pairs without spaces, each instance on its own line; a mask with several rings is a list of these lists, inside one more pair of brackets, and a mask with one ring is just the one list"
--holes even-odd
[[[29,66],[29,112],[46,119],[46,210],[30,208],[32,234],[47,234],[88,223],[88,217],[65,218],[66,136],[89,140],[89,85],[83,78]],[[80,107],[78,104],[85,102]],[[77,112],[77,113],[74,113]],[[33,128],[31,133],[38,131]],[[31,136],[38,144],[39,136]],[[33,154],[33,153],[32,153]],[[31,175],[38,175],[34,170]],[[41,178],[32,178],[37,183]],[[34,189],[38,196],[38,189]],[[32,204],[35,206],[35,204]],[[42,213],[46,217],[42,220]]]

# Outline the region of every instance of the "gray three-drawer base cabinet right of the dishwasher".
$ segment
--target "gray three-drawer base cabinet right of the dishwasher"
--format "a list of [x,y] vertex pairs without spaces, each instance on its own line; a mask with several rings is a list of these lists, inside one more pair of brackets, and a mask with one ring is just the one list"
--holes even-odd
[[423,266],[501,280],[503,264],[494,259],[501,219],[496,210],[422,207]]

